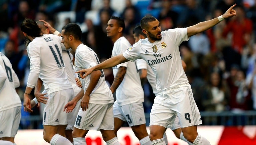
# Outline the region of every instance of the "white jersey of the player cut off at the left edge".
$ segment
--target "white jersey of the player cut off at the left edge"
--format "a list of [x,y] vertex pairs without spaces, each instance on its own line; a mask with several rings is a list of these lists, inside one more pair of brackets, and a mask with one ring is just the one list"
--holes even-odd
[[20,81],[12,69],[12,64],[9,59],[0,52],[0,77],[6,77],[1,79],[0,88],[0,111],[7,110],[21,106],[19,95],[16,93],[15,88],[20,86]]

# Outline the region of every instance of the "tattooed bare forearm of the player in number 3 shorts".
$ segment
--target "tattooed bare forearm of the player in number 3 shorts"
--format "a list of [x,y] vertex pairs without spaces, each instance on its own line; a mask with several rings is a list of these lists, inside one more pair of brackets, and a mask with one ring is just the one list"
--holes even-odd
[[126,74],[126,67],[123,67],[123,66],[119,67],[117,74],[115,76],[115,79],[110,87],[110,90],[112,93],[114,93],[118,88],[118,86],[122,83],[125,74]]

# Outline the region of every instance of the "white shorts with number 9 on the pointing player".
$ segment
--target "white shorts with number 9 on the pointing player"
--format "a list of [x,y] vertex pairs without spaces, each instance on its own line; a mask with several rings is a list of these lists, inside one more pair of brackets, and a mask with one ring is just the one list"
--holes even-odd
[[202,124],[191,86],[172,88],[159,93],[154,99],[149,125],[171,126],[176,115],[181,128]]

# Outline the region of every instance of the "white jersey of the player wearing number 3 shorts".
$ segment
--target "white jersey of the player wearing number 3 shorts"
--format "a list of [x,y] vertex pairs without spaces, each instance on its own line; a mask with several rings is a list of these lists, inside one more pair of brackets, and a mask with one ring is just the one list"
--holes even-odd
[[[124,37],[118,38],[113,46],[112,57],[122,54],[131,44]],[[122,83],[116,90],[116,102],[118,105],[127,105],[135,102],[144,102],[144,92],[140,82],[139,72],[135,62],[125,62],[113,67],[113,74],[116,76],[120,66],[126,67],[126,74]]]

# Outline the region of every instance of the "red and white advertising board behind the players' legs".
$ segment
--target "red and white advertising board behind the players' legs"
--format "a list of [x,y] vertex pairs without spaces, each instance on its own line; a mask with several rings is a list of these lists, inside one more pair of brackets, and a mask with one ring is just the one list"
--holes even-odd
[[[149,127],[147,127],[149,132]],[[208,139],[211,145],[256,145],[256,126],[203,126],[197,127],[198,133]],[[172,130],[167,129],[168,145],[187,145],[175,137]],[[130,127],[122,127],[117,132],[121,145],[139,145]],[[29,138],[28,138],[29,137]],[[99,131],[90,130],[85,137],[87,145],[105,145]],[[18,130],[15,137],[18,145],[49,145],[43,139],[42,129]]]

